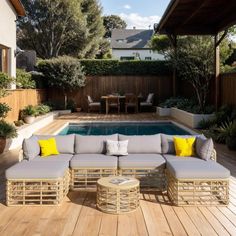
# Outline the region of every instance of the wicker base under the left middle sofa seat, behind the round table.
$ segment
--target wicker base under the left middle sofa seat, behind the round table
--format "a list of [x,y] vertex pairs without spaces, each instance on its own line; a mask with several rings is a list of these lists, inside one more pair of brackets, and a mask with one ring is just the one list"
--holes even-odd
[[117,169],[71,169],[71,190],[96,190],[97,180],[102,177],[116,176]]

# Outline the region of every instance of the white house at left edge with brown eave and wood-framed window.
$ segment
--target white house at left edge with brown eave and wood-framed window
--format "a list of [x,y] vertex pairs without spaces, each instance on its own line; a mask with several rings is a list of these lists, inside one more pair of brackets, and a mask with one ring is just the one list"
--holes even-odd
[[16,76],[16,20],[25,16],[20,0],[0,0],[0,71]]

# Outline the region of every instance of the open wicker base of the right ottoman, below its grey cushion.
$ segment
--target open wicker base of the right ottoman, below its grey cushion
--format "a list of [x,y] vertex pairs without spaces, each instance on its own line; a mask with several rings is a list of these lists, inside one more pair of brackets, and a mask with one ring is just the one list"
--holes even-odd
[[167,173],[167,192],[177,206],[228,205],[228,179],[176,179]]

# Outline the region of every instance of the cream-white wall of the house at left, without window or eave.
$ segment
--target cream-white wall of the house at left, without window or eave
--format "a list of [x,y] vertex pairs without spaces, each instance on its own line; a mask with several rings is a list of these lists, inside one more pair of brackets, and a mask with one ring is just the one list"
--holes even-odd
[[16,12],[8,0],[0,3],[0,45],[9,48],[8,73],[16,76]]

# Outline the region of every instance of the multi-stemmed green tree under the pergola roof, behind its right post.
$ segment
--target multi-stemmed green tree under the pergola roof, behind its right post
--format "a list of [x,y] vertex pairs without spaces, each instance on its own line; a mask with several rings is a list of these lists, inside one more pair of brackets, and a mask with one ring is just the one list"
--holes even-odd
[[[221,62],[231,50],[226,38],[221,44]],[[188,81],[194,88],[199,109],[204,112],[209,85],[214,74],[214,45],[211,36],[182,36],[177,39],[174,50],[167,36],[155,36],[152,47],[163,53],[177,70],[178,76]]]

